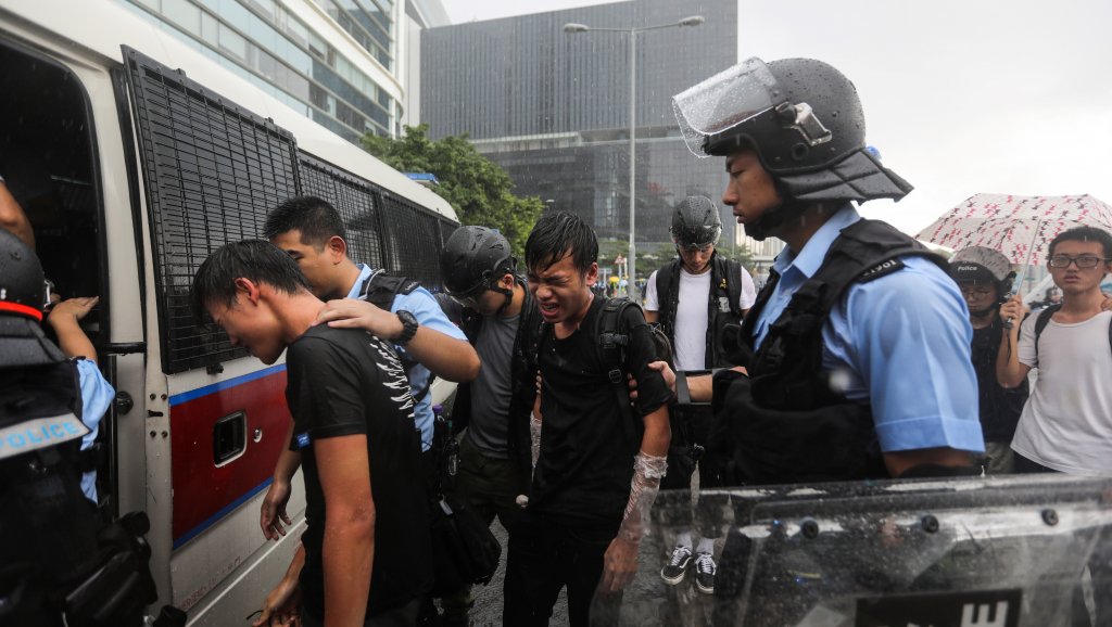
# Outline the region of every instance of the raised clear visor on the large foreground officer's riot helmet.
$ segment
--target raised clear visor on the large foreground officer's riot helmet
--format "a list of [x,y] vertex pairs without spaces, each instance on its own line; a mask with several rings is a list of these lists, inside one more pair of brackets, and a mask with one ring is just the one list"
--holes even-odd
[[772,109],[784,99],[765,62],[752,57],[672,98],[687,149],[709,157],[704,140]]

